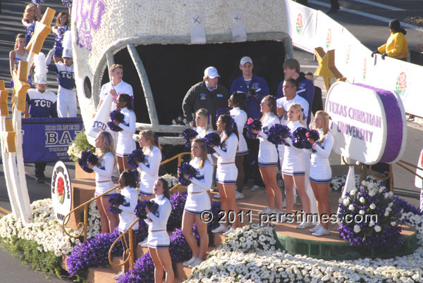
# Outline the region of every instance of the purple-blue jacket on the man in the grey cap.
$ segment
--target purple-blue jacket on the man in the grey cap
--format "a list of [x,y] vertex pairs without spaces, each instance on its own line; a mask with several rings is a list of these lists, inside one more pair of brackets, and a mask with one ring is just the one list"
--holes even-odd
[[247,106],[248,117],[253,119],[262,118],[262,113],[260,112],[260,102],[264,96],[269,95],[269,87],[267,86],[266,80],[262,77],[257,77],[257,75],[252,75],[250,84],[247,86],[244,81],[244,77],[240,76],[238,79],[234,80],[231,85],[231,94],[234,92],[247,94],[248,90],[252,88],[255,89],[255,96],[248,96],[245,98],[245,105]]

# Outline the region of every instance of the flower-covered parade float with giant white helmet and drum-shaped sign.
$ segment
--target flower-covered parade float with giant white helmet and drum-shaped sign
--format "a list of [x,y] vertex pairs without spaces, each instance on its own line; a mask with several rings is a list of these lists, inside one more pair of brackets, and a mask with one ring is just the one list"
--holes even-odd
[[[235,70],[238,68],[241,56],[250,55],[254,58],[257,56],[259,59],[255,60],[257,61],[255,68],[262,72],[260,75],[266,77],[270,85],[277,85],[282,76],[280,65],[285,57],[286,49],[290,48],[287,44],[290,39],[286,33],[285,16],[286,7],[281,1],[221,0],[207,2],[207,4],[202,0],[186,3],[164,0],[154,2],[74,1],[72,18],[75,77],[85,128],[91,129],[94,125],[93,115],[99,103],[99,89],[104,82],[109,81],[106,70],[113,63],[124,65],[124,80],[134,86],[137,130],[181,132],[185,127],[169,125],[171,118],[178,115],[179,102],[182,101],[186,90],[201,80],[202,70],[209,65],[215,65],[221,76],[226,77],[223,82],[224,80],[230,82],[233,74],[236,74]],[[322,73],[317,75],[326,74],[328,77],[332,76],[333,80],[341,79],[339,73],[333,69],[333,60],[325,61],[326,54],[318,54],[321,58],[319,63]],[[327,51],[327,54],[333,54],[333,52]],[[266,73],[265,67],[268,65],[270,66],[269,73]],[[275,72],[276,69],[278,70]],[[19,77],[25,78],[27,77],[25,75]],[[328,79],[327,82],[329,89],[331,80]],[[25,82],[23,81],[22,84],[25,85]],[[359,88],[360,90],[357,90]],[[345,101],[345,97],[341,95],[345,91],[362,92],[363,96],[366,94],[371,96],[373,100],[367,105],[369,109],[362,110],[364,106],[361,104],[353,106],[353,103],[362,102],[358,99]],[[23,91],[20,90],[20,92]],[[18,95],[20,92],[16,90]],[[367,97],[364,100],[367,100]],[[0,101],[4,103],[4,87]],[[374,106],[374,101],[377,102],[377,107]],[[386,104],[386,101],[390,102],[388,103],[390,106]],[[344,108],[339,105],[348,106],[345,108],[346,116],[343,115]],[[353,115],[355,118],[343,120],[348,118],[350,108],[353,108],[353,112],[356,110],[354,112],[356,114]],[[394,112],[398,120],[390,120],[385,114],[392,108],[395,108]],[[333,120],[332,131],[336,132],[336,139],[340,141],[336,145],[336,150],[343,156],[367,164],[381,160],[393,163],[400,159],[405,146],[406,126],[403,119],[403,107],[395,92],[385,94],[368,87],[337,82],[329,91],[326,110],[331,111],[331,115],[338,118]],[[360,113],[364,113],[360,114],[360,117],[363,115],[370,117],[372,114],[371,118],[365,118],[367,121],[365,126],[360,124],[363,118],[357,118],[359,110]],[[1,116],[5,120],[6,113],[2,111]],[[8,126],[7,129],[1,130],[2,154],[13,161],[13,158],[18,158],[13,153],[16,150],[18,154],[19,146],[14,149],[13,142],[6,143],[5,141],[12,141],[16,136],[19,137],[18,134],[9,132],[19,132],[20,129]],[[387,146],[389,137],[393,139],[393,144]],[[19,145],[19,140],[15,141]],[[169,137],[161,139],[161,142],[178,144],[180,141]],[[370,149],[372,152],[367,152]],[[8,181],[8,188],[9,185],[11,188],[9,197],[11,202],[16,203],[17,208],[13,210],[13,214],[0,220],[2,242],[16,247],[18,251],[19,249],[23,251],[26,246],[32,246],[31,256],[24,257],[32,263],[35,258],[40,258],[37,263],[42,265],[45,263],[42,259],[53,258],[45,271],[56,272],[59,275],[63,272],[61,268],[66,268],[69,273],[84,280],[87,278],[85,276],[88,268],[107,265],[106,257],[109,251],[104,247],[110,246],[118,235],[117,233],[99,233],[99,214],[94,203],[90,205],[87,217],[86,239],[73,239],[63,233],[52,200],[37,201],[32,203],[29,210],[27,206],[26,210],[19,213],[19,206],[21,203],[25,204],[25,199],[16,198],[17,194],[14,191],[25,192],[25,187],[18,185],[17,175],[17,172],[23,171],[13,168],[15,163],[12,161],[6,164],[8,169],[6,174],[12,176],[10,182]],[[63,176],[58,178],[60,177],[63,178]],[[214,251],[210,251],[207,260],[192,270],[188,282],[367,282],[370,280],[422,282],[421,213],[404,201],[393,198],[379,182],[364,181],[357,184],[355,189],[354,180],[353,174],[348,175],[345,180],[347,189],[344,189],[343,199],[340,201],[340,213],[360,206],[357,213],[362,214],[361,210],[363,210],[363,214],[366,214],[371,210],[376,211],[375,201],[381,201],[380,206],[377,207],[377,213],[381,214],[381,219],[384,221],[369,223],[366,227],[357,228],[353,225],[344,227],[343,231],[341,231],[342,228],[340,229],[340,232],[347,235],[349,239],[345,237],[342,248],[336,249],[344,251],[344,256],[346,254],[346,258],[350,259],[345,260],[344,257],[334,260],[333,254],[339,253],[329,255],[322,253],[320,241],[311,243],[307,240],[308,251],[297,249],[301,245],[300,242],[290,246],[290,241],[295,237],[275,233],[276,227],[280,229],[281,224],[247,225],[231,234]],[[54,182],[52,190],[60,191],[57,190],[58,183],[60,182]],[[56,201],[61,199],[62,195],[54,197]],[[174,211],[180,216],[183,194],[180,194],[178,199],[176,198],[177,195],[173,200]],[[364,201],[361,200],[362,198]],[[214,210],[217,213],[219,208],[214,207]],[[255,210],[259,211],[259,208]],[[257,222],[257,218],[254,221]],[[173,223],[175,222],[180,222],[180,219],[173,219]],[[354,244],[360,246],[361,244],[367,249],[379,248],[380,243],[376,243],[377,233],[388,235],[391,232],[398,232],[399,225],[414,227],[409,229],[408,237],[412,241],[407,241],[411,243],[407,249],[402,251],[398,249],[398,246],[400,249],[403,247],[401,246],[403,237],[397,234],[395,242],[387,243],[388,249],[391,246],[397,248],[388,256],[384,254],[383,256],[387,257],[385,259],[379,258],[378,253],[366,255],[355,253],[348,257],[351,253],[348,253],[344,246],[354,246]],[[173,251],[175,260],[182,261],[190,258],[190,254],[186,253],[186,245],[183,246],[184,239],[178,227],[174,225],[169,229],[169,232],[173,232],[173,239],[177,244]],[[78,234],[80,231],[81,229],[69,229],[67,232]],[[372,236],[369,237],[371,241],[365,240],[364,236],[367,234],[364,232]],[[331,234],[332,237],[338,237],[334,232]],[[86,240],[85,243],[82,242],[84,240]],[[21,241],[25,243],[16,244]],[[383,249],[387,249],[386,246]],[[328,251],[333,250],[328,249]],[[118,252],[120,248],[116,247],[113,253]],[[401,256],[397,256],[396,253]],[[135,263],[134,270],[128,272],[118,282],[152,282],[153,270],[152,260],[145,253]],[[113,272],[116,273],[116,270]],[[95,277],[89,278],[89,282],[96,281]],[[97,279],[96,282],[106,281]]]

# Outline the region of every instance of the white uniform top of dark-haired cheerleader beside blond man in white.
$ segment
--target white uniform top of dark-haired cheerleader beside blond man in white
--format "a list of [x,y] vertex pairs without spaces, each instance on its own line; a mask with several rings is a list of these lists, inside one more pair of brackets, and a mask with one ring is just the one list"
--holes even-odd
[[121,108],[121,113],[123,114],[123,122],[119,123],[121,127],[121,132],[118,132],[118,141],[116,145],[116,153],[132,153],[137,146],[133,139],[133,134],[135,134],[135,122],[137,118],[135,112],[128,109],[128,107]]

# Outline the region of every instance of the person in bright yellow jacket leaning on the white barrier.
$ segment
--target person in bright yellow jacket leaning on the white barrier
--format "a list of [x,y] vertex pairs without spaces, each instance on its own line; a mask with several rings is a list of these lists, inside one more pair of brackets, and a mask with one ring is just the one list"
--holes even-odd
[[372,57],[376,53],[382,54],[382,59],[385,56],[407,61],[408,57],[408,46],[405,34],[407,32],[401,27],[399,20],[391,20],[389,22],[389,30],[391,36],[388,38],[386,44],[379,46],[376,51],[372,52]]

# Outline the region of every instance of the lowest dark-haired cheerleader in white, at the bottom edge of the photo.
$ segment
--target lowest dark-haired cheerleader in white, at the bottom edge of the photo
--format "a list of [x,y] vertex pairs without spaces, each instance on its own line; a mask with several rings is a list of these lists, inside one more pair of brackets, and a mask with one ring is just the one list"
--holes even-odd
[[171,254],[169,253],[169,234],[166,225],[169,215],[171,215],[172,205],[169,199],[169,187],[166,180],[159,178],[154,182],[154,196],[152,199],[159,204],[159,216],[154,215],[146,207],[148,225],[148,251],[154,263],[154,282],[161,282],[163,273],[166,272],[166,283],[173,282],[175,275],[172,268]]

